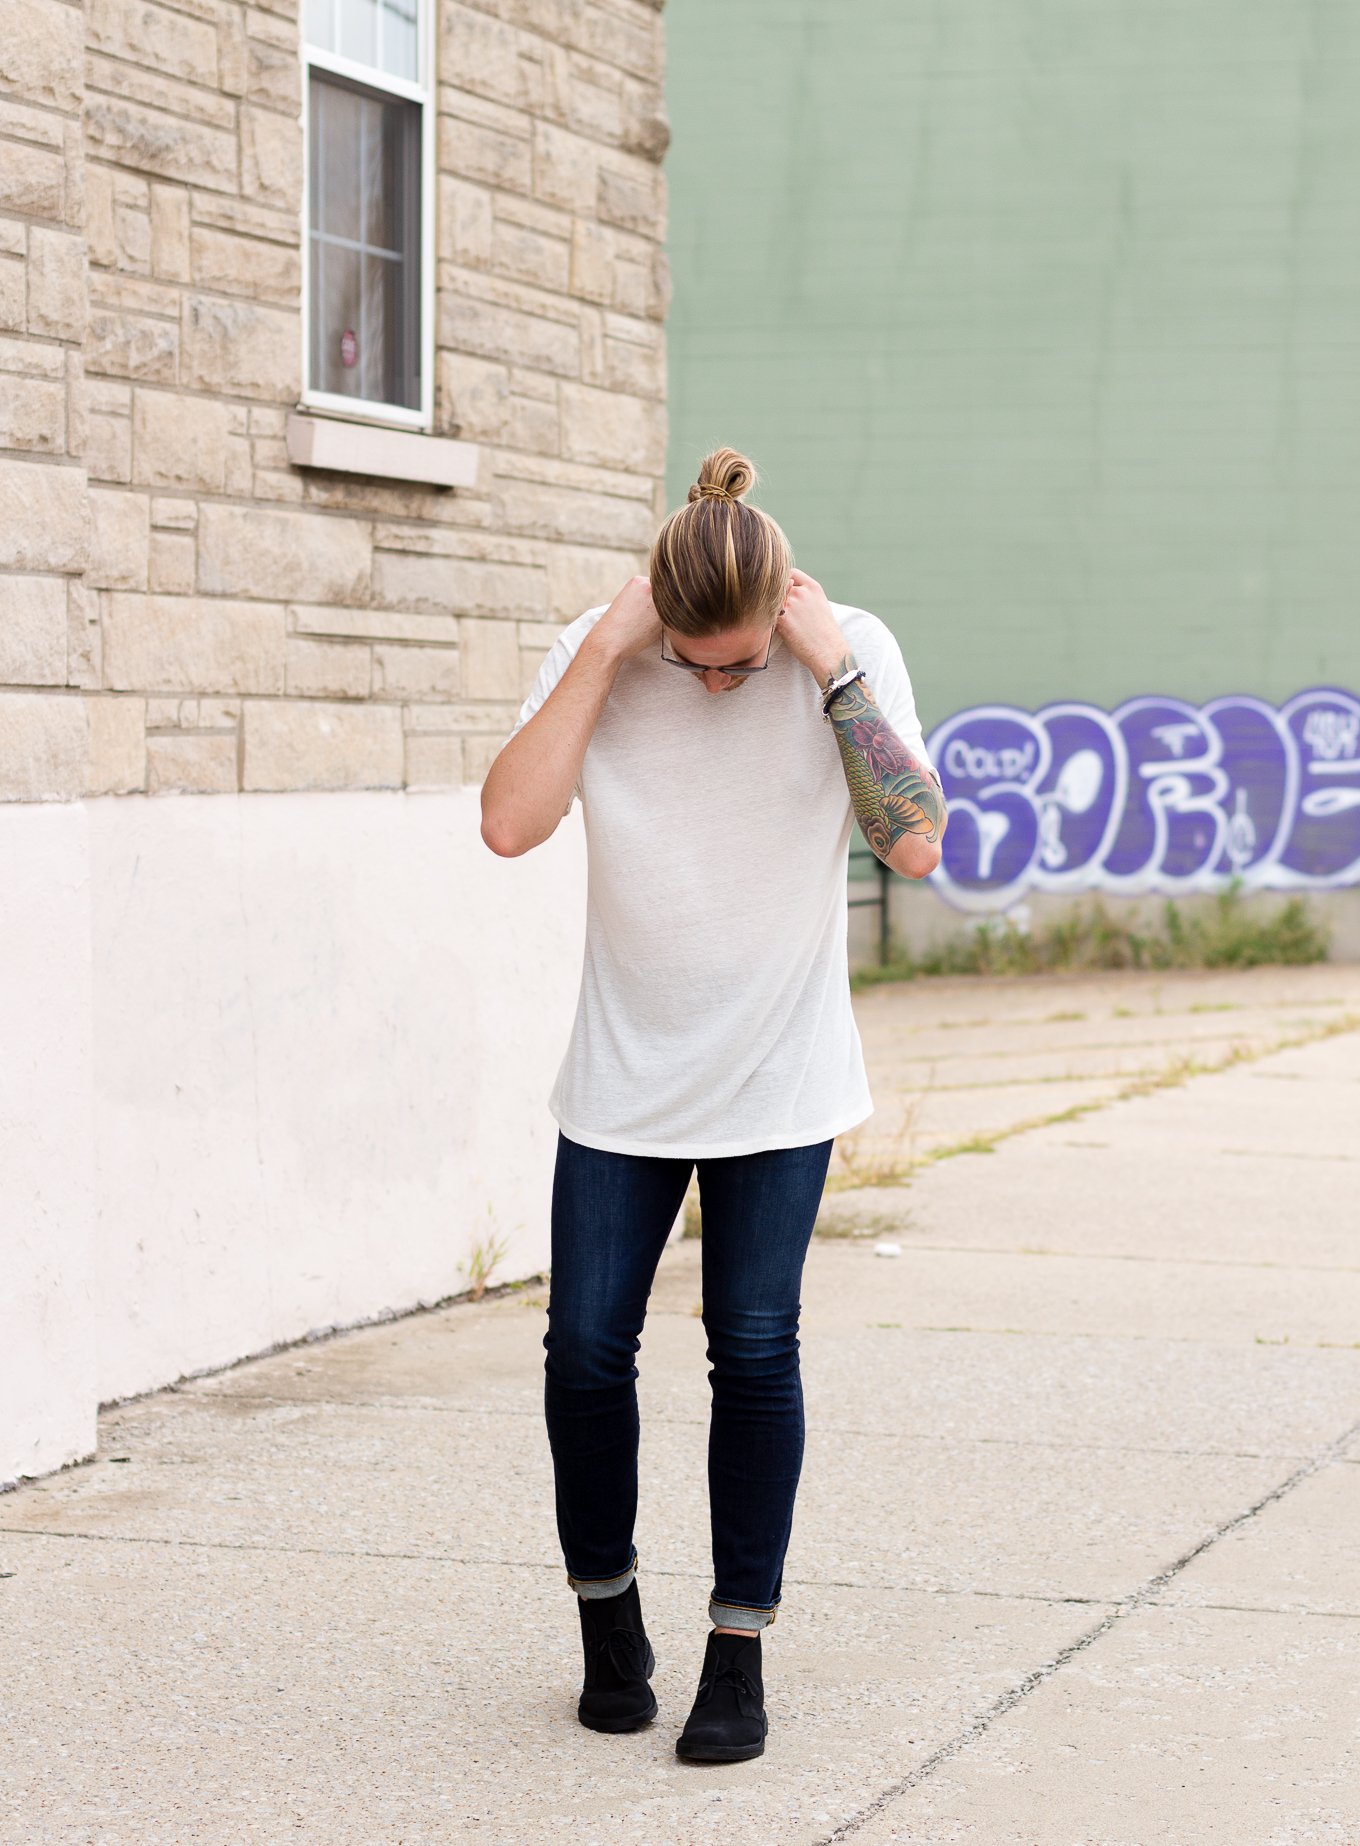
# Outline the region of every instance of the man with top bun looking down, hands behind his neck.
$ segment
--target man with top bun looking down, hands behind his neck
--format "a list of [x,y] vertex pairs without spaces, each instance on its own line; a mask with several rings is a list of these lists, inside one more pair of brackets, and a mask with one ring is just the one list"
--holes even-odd
[[[773,1623],[803,1462],[799,1283],[832,1141],[873,1109],[845,953],[854,820],[902,877],[945,799],[901,648],[830,604],[710,454],[650,574],[557,639],[482,792],[526,853],[579,796],[587,941],[559,1124],[544,1414],[594,1730],[655,1717],[637,1512],[638,1333],[698,1163],[714,1589],[688,1761],[764,1750]],[[707,694],[707,696],[701,696]]]

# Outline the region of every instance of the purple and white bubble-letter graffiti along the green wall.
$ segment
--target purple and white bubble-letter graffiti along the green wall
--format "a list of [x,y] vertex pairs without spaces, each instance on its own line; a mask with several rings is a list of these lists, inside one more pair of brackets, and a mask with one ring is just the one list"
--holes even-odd
[[1321,890],[1360,882],[1360,700],[1275,707],[976,705],[932,731],[948,797],[934,875],[963,910],[1024,892]]

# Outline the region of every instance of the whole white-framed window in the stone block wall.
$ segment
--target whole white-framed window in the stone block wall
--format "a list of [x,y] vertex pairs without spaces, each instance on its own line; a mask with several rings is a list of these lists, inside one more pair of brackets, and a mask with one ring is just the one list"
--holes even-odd
[[303,404],[428,428],[432,0],[303,11]]

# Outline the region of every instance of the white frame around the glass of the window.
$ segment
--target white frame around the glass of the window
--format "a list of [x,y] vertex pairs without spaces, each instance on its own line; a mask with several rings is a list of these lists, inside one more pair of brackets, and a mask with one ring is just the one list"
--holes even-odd
[[[323,52],[306,42],[306,4],[297,9],[297,54],[303,68],[303,395],[299,408],[319,410],[327,415],[349,417],[352,423],[380,423],[397,430],[428,430],[434,426],[434,186],[435,186],[435,0],[417,0],[417,76],[391,78],[371,65],[360,65],[352,57],[340,57],[336,52]],[[351,78],[371,90],[384,90],[406,102],[421,105],[421,404],[408,410],[404,404],[384,404],[369,397],[347,397],[340,391],[319,391],[312,386],[312,70],[330,70],[338,78]]]

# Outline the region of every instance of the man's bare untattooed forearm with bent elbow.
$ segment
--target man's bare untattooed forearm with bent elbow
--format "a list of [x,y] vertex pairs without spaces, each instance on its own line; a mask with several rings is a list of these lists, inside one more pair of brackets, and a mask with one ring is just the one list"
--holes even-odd
[[506,744],[482,785],[482,838],[506,857],[541,845],[567,812],[622,655],[592,628],[530,722]]

